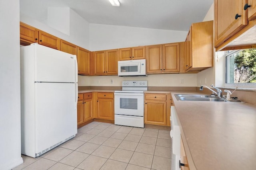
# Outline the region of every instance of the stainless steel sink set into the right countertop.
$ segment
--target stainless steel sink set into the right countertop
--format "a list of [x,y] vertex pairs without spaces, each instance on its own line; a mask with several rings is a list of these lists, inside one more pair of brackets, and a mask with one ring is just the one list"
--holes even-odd
[[226,101],[225,99],[216,98],[211,95],[201,95],[201,94],[174,94],[177,100],[183,101],[207,101],[207,102],[228,102],[228,103],[244,103],[238,99],[230,99]]

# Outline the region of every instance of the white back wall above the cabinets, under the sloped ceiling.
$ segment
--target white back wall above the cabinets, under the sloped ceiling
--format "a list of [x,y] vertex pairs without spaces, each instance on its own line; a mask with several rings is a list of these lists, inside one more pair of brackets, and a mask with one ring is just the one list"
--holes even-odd
[[185,41],[187,31],[90,23],[90,50],[99,51]]

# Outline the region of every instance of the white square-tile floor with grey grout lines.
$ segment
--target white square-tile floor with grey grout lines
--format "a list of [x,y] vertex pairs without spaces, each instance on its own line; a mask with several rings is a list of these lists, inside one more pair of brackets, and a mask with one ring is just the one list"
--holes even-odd
[[13,170],[170,170],[170,131],[92,122],[37,158],[22,155]]

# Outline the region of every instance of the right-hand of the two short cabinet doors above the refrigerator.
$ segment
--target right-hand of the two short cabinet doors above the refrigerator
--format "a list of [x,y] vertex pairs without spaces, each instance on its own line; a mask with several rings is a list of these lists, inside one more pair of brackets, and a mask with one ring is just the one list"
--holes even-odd
[[39,30],[39,44],[60,50],[60,38]]

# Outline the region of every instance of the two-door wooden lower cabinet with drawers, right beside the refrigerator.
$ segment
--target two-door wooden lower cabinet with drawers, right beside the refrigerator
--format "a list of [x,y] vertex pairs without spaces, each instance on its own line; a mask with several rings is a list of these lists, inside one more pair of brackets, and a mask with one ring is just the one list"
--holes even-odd
[[92,93],[78,94],[77,102],[77,125],[93,119],[92,116]]

